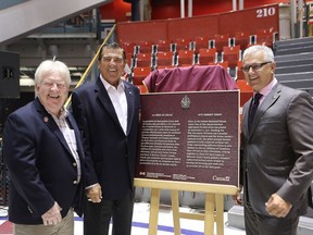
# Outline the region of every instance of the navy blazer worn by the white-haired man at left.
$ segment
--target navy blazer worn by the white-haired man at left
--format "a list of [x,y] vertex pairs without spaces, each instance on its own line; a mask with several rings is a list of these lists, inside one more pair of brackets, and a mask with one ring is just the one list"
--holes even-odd
[[[72,114],[66,120],[75,132],[78,154],[84,165],[78,126]],[[41,215],[54,201],[62,208],[62,217],[66,215],[71,207],[82,214],[84,174],[77,184],[75,159],[57,123],[38,98],[9,115],[3,133],[3,158],[11,180],[10,221],[42,224]]]

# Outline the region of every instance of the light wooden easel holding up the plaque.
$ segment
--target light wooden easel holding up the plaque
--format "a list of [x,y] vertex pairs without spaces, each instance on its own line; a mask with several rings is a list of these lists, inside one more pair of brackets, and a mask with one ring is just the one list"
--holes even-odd
[[[214,222],[216,222],[217,234],[224,235],[224,195],[235,195],[237,193],[237,187],[233,185],[213,185],[147,178],[135,178],[135,186],[151,188],[149,235],[156,235],[158,233],[161,189],[171,190],[175,235],[180,235],[179,219],[204,221],[204,235],[213,234]],[[205,193],[204,214],[179,212],[178,191],[180,190]],[[214,212],[214,205],[216,206],[216,212]]]

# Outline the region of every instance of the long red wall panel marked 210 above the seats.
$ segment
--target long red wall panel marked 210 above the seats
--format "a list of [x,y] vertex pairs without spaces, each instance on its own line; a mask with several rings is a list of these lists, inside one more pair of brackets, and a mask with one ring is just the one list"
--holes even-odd
[[259,28],[279,32],[278,4],[196,17],[117,23],[117,38],[128,42],[176,38],[192,40],[196,36],[234,36],[240,30],[255,34]]

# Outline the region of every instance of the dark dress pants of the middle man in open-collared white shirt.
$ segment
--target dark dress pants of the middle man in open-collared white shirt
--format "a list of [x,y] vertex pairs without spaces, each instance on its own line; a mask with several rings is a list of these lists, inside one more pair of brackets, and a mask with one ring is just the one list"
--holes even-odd
[[130,235],[134,209],[134,193],[129,190],[117,200],[99,203],[86,202],[84,213],[84,235],[108,235],[112,219],[112,235]]

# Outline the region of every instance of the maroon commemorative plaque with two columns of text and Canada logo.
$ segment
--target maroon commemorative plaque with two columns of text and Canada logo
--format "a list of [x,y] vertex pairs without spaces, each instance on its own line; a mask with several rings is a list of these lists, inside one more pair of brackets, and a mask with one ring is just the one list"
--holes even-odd
[[239,184],[239,91],[141,96],[136,177]]

